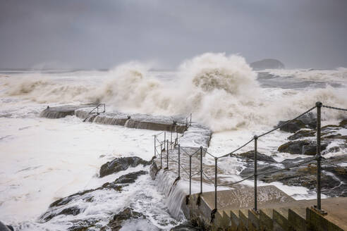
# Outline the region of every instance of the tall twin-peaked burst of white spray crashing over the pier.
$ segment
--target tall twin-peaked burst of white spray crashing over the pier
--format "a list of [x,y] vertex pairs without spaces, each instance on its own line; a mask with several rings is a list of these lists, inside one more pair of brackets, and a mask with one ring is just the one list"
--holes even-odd
[[260,92],[257,75],[245,59],[225,54],[203,54],[185,61],[171,85],[152,77],[139,63],[118,66],[111,76],[100,89],[98,101],[122,111],[165,115],[191,112],[213,130],[243,125],[247,115],[242,111],[255,106]]

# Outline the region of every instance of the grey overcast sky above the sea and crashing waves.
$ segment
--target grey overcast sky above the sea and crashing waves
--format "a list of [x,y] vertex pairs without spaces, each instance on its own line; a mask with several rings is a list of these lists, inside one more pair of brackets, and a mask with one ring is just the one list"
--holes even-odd
[[205,52],[347,67],[347,0],[0,0],[0,68],[175,68]]

